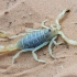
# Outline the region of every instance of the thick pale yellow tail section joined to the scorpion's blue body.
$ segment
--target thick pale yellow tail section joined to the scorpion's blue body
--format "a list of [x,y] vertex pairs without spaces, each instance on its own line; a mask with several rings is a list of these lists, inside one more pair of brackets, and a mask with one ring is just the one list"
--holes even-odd
[[8,46],[0,45],[0,53],[8,53],[8,52],[15,51],[15,50],[18,50],[16,43],[10,44]]

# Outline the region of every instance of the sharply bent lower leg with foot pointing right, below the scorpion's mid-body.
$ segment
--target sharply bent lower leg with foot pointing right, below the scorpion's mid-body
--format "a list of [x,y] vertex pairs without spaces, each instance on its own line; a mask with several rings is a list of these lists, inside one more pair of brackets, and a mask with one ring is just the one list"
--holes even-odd
[[36,52],[37,50],[40,50],[41,47],[47,45],[47,44],[48,44],[48,42],[45,42],[45,43],[41,44],[40,46],[35,47],[35,48],[32,51],[32,55],[33,55],[33,57],[34,57],[35,61],[41,62],[41,63],[46,63],[44,59],[38,59],[38,58],[37,58],[37,55],[35,54],[35,52]]

